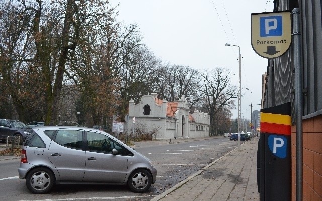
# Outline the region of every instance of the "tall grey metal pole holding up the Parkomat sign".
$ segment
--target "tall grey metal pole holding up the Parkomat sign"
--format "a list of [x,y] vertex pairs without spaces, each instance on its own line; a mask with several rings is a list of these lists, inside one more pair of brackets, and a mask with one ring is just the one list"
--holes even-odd
[[292,10],[293,15],[293,60],[295,69],[295,119],[296,119],[296,201],[303,198],[303,96],[302,96],[302,66],[301,66],[301,33],[300,10]]

